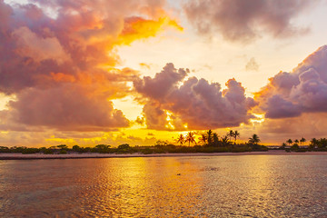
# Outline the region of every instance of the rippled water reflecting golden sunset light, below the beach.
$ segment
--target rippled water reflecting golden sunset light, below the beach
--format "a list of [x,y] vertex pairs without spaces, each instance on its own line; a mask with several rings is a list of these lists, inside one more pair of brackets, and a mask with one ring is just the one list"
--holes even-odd
[[323,155],[0,161],[0,217],[327,217],[326,194]]

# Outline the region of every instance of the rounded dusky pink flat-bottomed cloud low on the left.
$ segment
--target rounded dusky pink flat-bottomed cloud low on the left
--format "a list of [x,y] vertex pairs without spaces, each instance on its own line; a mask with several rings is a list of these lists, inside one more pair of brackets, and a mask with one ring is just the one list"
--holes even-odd
[[[8,104],[10,124],[46,126],[61,131],[109,131],[126,127],[129,121],[115,110],[106,95],[94,95],[83,86],[40,90],[25,89]],[[4,128],[4,126],[3,126]]]

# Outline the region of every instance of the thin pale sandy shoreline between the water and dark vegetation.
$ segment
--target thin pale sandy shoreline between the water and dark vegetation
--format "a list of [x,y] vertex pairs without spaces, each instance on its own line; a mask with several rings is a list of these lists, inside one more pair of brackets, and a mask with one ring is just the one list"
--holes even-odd
[[180,157],[180,156],[241,156],[241,155],[327,155],[327,152],[287,153],[285,151],[243,152],[243,153],[168,153],[168,154],[13,154],[2,153],[0,160],[51,160],[84,158],[127,158],[127,157]]

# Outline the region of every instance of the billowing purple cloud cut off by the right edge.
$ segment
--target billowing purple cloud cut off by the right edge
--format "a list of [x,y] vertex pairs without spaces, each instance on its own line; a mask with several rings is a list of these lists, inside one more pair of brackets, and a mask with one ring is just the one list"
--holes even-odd
[[310,54],[291,73],[272,77],[255,99],[267,118],[327,113],[327,45]]

